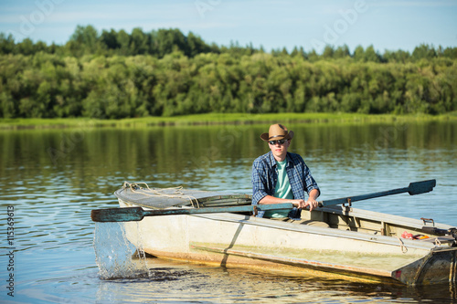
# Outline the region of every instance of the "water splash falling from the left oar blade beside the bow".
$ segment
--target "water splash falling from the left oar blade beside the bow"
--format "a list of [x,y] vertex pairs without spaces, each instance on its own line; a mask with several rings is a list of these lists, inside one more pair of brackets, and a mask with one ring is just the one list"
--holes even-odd
[[102,279],[150,278],[143,242],[135,247],[125,235],[124,223],[96,223],[93,247]]

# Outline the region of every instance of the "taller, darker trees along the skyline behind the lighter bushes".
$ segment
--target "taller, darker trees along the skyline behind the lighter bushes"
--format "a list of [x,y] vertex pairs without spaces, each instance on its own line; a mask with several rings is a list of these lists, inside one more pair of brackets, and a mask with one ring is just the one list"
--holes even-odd
[[[219,47],[214,43],[207,44],[194,33],[189,32],[186,36],[177,28],[143,32],[143,29],[136,27],[129,34],[123,29],[119,31],[103,29],[99,33],[93,26],[77,26],[75,32],[69,37],[69,41],[62,46],[54,43],[48,46],[43,41],[34,43],[29,38],[25,38],[21,42],[15,42],[15,38],[12,35],[6,36],[4,33],[0,33],[0,54],[34,55],[38,52],[44,52],[77,58],[85,55],[152,55],[163,58],[173,51],[180,51],[190,58],[202,53],[230,53],[231,55],[239,56],[252,55],[259,52],[265,53],[263,47],[255,48],[252,45],[240,47],[238,43],[233,42],[228,47]],[[435,48],[423,44],[415,47],[412,53],[399,49],[396,51],[385,50],[383,54],[377,53],[373,46],[366,49],[361,46],[356,47],[353,53],[349,51],[347,46],[326,46],[322,54],[318,54],[314,49],[305,52],[303,47],[294,47],[292,51],[288,51],[283,47],[282,49],[271,49],[271,54],[273,56],[301,56],[310,61],[350,57],[356,61],[414,62],[431,58],[457,59],[457,47],[443,48],[440,46]]]

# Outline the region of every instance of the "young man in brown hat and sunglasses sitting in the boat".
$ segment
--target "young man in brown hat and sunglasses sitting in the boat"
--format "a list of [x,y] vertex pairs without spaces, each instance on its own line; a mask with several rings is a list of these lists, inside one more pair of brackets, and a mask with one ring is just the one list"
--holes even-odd
[[[252,164],[252,204],[292,203],[291,210],[259,212],[260,217],[300,218],[300,209],[317,207],[320,190],[299,154],[287,152],[293,138],[282,124],[272,124],[260,139],[268,142],[271,152],[261,155]],[[308,199],[305,200],[305,194]],[[298,208],[298,209],[297,209]]]

